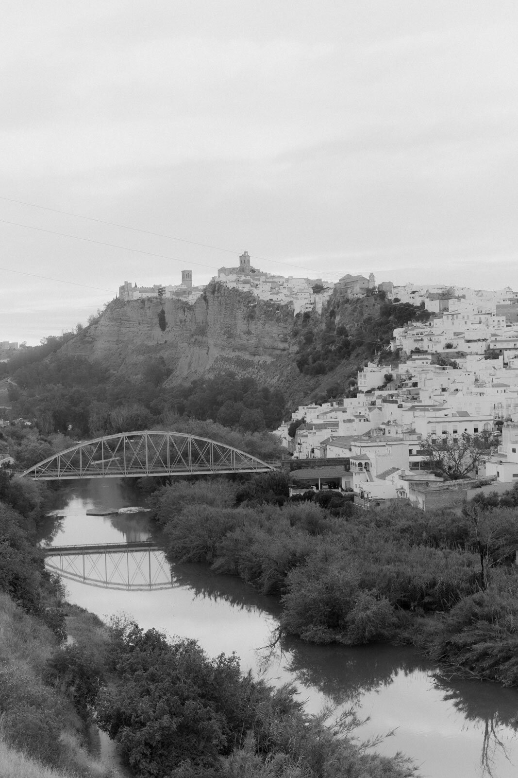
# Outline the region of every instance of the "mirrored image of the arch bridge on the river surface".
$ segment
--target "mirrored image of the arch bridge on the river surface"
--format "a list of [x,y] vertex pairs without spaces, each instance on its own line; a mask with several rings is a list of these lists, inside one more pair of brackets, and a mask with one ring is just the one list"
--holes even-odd
[[43,551],[49,572],[89,586],[131,591],[179,586],[163,548],[152,543],[62,545]]

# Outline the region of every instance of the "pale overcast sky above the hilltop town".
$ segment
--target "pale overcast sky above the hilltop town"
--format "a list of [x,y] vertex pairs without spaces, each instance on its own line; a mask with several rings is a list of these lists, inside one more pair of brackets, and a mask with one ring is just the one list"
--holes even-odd
[[245,249],[518,289],[516,33],[499,0],[4,0],[0,341]]

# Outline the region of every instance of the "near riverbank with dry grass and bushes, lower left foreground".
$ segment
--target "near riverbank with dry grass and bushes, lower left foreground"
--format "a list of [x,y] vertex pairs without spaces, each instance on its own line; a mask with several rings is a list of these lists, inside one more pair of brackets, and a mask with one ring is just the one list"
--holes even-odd
[[[55,618],[50,621],[61,625],[61,632],[53,633],[42,618],[47,614],[49,619],[48,601],[37,603],[37,587],[43,591],[42,582],[48,580],[41,555],[36,549],[28,553],[16,513],[0,508],[8,517],[5,527],[12,530],[9,537],[4,532],[2,546],[2,562],[12,561],[11,584],[2,578],[7,589],[16,583],[16,552],[21,553],[20,569],[23,552],[29,560],[24,605],[0,591],[2,737],[11,762],[16,757],[15,764],[30,763],[34,778],[43,778],[47,768],[58,775],[107,778],[110,769],[85,752],[85,724],[92,713],[139,776],[237,778],[248,772],[265,778],[330,778],[337,770],[372,778],[416,774],[401,755],[385,757],[359,745],[351,737],[353,717],[328,727],[323,717],[304,713],[292,690],[272,689],[243,675],[237,657],[210,659],[196,641],[167,640],[134,622],[114,622],[110,628],[60,601],[55,583]],[[30,595],[38,605],[34,612]],[[63,642],[66,633],[74,639],[69,645]],[[180,706],[176,713],[165,710],[171,705]]]

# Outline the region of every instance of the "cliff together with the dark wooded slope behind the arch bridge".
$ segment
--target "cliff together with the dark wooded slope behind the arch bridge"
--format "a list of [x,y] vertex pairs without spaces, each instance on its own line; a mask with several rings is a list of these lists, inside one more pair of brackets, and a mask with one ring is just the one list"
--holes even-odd
[[[224,326],[228,353],[234,354],[226,363],[194,360],[210,329],[205,335],[199,328],[186,333],[183,319],[177,326],[183,327],[183,348],[186,353],[190,349],[192,357],[189,380],[186,373],[179,374],[178,355],[167,338],[146,345],[150,327],[165,335],[158,323],[146,320],[143,328],[135,318],[124,320],[123,347],[109,341],[100,349],[97,338],[106,340],[106,333],[120,328],[117,316],[126,315],[127,306],[133,305],[115,301],[78,335],[47,338],[36,349],[19,352],[9,366],[1,366],[3,373],[9,369],[12,379],[12,414],[34,420],[47,436],[92,437],[157,427],[168,414],[218,422],[242,433],[276,429],[288,415],[289,404],[350,394],[367,359],[376,353],[387,362],[394,358],[387,347],[395,327],[429,318],[421,307],[389,303],[381,293],[361,300],[333,296],[322,315],[293,317],[288,309],[277,314],[266,307],[259,327],[252,296],[228,292],[214,288],[207,293],[214,327]],[[186,316],[194,312],[184,308]],[[149,319],[151,309],[146,303],[138,307],[138,315]],[[246,329],[251,322],[256,327],[252,334]],[[173,322],[168,328],[172,330]],[[174,335],[169,329],[167,333]],[[237,334],[229,334],[234,331]],[[283,348],[276,351],[273,342]],[[89,348],[80,348],[85,343]]]

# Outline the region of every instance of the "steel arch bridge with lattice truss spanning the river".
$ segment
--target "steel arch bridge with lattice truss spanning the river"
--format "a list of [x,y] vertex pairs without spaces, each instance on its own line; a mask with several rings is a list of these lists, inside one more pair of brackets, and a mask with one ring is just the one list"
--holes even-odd
[[275,464],[252,454],[186,433],[133,432],[77,443],[37,464],[22,476],[37,481],[72,478],[141,478],[143,475],[264,473]]

